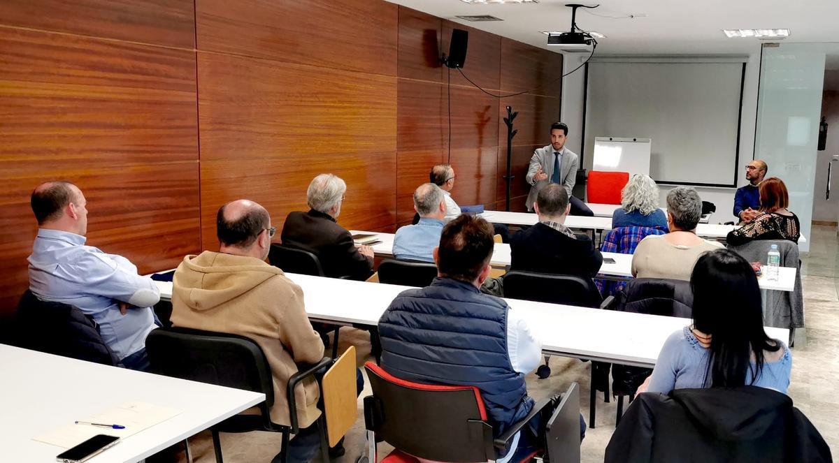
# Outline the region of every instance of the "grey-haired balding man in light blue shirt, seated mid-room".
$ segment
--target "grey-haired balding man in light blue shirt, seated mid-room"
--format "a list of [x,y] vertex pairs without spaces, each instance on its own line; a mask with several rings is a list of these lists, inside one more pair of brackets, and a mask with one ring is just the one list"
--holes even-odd
[[432,252],[440,245],[440,233],[446,218],[446,196],[432,183],[414,190],[414,211],[420,222],[396,231],[393,237],[393,257],[404,260],[434,262]]

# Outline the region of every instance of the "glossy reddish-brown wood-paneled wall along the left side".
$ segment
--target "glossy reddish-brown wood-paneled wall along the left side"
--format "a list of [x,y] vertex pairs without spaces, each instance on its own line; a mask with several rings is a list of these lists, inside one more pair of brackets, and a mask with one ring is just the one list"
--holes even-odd
[[216,249],[229,200],[257,200],[281,226],[321,172],[347,180],[342,225],[392,231],[450,160],[450,95],[461,204],[503,206],[502,118],[519,111],[520,210],[559,114],[561,56],[466,28],[473,81],[539,87],[499,100],[440,65],[455,27],[382,0],[0,2],[0,313],[26,288],[29,194],[45,180],[79,185],[88,243],[143,273]]

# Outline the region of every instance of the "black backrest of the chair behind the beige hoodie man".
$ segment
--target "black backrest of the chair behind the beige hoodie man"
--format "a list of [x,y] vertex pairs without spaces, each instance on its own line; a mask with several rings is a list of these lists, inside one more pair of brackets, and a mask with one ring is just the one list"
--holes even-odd
[[227,388],[264,393],[260,408],[274,405],[274,379],[261,347],[245,336],[158,328],[146,337],[152,372]]

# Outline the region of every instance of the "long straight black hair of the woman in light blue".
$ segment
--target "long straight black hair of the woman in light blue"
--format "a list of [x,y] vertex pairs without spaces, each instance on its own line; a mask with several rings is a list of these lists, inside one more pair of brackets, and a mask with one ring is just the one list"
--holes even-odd
[[[752,383],[763,372],[763,351],[778,351],[763,330],[758,278],[751,264],[727,249],[706,252],[690,274],[693,325],[711,335],[708,374],[711,388],[734,388]],[[752,364],[754,356],[754,365]]]

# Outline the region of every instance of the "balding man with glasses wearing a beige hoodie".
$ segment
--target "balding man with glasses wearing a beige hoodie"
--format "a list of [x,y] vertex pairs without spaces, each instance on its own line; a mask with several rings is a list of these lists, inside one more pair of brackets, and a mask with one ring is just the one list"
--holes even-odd
[[[262,347],[274,376],[271,419],[289,424],[286,387],[297,363],[323,358],[323,341],[312,329],[303,291],[282,270],[265,263],[276,228],[263,206],[250,200],[222,205],[216,216],[219,252],[186,256],[175,270],[172,324],[247,336]],[[317,383],[295,391],[300,433],[290,441],[289,462],[311,460],[320,445],[315,420]],[[279,457],[279,455],[278,455]]]

